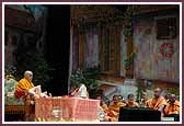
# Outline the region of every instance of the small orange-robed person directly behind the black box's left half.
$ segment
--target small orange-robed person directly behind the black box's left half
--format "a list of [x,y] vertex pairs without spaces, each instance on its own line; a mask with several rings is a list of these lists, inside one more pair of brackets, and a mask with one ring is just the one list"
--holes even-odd
[[139,107],[139,104],[135,102],[134,94],[128,94],[128,101],[126,102],[127,107]]

